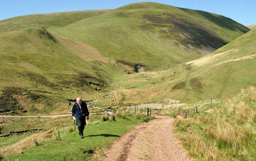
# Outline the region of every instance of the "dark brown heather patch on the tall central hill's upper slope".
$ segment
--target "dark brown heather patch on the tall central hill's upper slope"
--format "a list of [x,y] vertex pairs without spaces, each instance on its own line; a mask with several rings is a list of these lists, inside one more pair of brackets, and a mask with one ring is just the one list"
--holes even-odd
[[156,14],[143,15],[143,18],[151,22],[142,26],[143,28],[162,28],[161,36],[170,39],[175,37],[175,40],[188,49],[190,48],[188,44],[196,48],[201,48],[201,45],[204,45],[217,49],[228,43],[220,39],[216,33],[208,30],[202,22],[192,22],[189,17],[183,15]]

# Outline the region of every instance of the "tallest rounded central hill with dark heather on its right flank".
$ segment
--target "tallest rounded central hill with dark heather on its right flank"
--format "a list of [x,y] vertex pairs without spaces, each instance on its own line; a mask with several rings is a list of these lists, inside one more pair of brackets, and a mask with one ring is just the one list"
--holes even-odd
[[168,68],[169,61],[194,60],[249,31],[224,16],[153,2],[127,5],[49,30],[90,44],[116,62],[149,70]]

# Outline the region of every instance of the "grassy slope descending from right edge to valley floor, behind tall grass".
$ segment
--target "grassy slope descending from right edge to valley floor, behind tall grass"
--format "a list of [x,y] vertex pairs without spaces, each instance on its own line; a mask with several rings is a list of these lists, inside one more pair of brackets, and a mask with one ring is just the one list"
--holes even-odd
[[[180,100],[195,103],[201,100],[230,98],[240,89],[256,85],[256,31],[194,61],[172,66],[168,70],[145,72],[114,79],[110,85],[116,100],[125,104]],[[211,68],[213,58],[213,68]],[[99,102],[110,101],[97,98]]]

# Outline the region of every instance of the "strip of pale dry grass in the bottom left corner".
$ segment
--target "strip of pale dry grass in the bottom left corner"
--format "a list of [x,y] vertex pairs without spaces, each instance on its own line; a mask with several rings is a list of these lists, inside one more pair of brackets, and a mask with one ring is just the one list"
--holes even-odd
[[12,146],[6,147],[4,149],[0,149],[0,154],[1,154],[1,156],[8,156],[11,154],[19,154],[29,147],[32,147],[34,145],[39,146],[40,142],[47,140],[49,138],[52,138],[52,136],[53,136],[53,130],[49,130],[44,133],[33,134],[27,138],[20,140],[19,142],[17,142],[16,144],[14,144]]

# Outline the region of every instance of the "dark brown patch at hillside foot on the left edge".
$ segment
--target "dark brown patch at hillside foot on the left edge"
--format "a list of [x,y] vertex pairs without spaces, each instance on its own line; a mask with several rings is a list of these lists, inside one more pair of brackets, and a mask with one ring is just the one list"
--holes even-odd
[[[20,101],[21,99],[22,103]],[[21,112],[26,112],[24,109],[26,108],[25,106],[28,106],[27,104],[24,104],[26,103],[26,100],[34,103],[46,99],[46,96],[38,95],[19,87],[6,87],[0,96],[0,113],[12,112],[13,114],[19,114]]]

